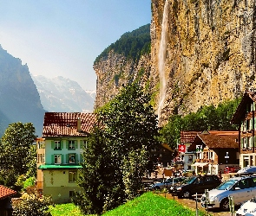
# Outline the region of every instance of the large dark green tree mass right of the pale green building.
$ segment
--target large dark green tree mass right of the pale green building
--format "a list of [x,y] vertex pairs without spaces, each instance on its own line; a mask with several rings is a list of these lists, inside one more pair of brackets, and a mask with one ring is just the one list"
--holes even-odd
[[151,149],[159,144],[149,101],[133,83],[97,111],[101,127],[88,140],[78,181],[82,193],[76,204],[82,212],[102,213],[139,194],[148,163],[154,161]]

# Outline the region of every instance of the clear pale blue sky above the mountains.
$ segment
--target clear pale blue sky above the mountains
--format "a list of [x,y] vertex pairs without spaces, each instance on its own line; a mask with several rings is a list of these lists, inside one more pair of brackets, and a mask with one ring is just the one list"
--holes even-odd
[[151,22],[150,0],[0,0],[0,44],[33,75],[95,90],[95,58]]

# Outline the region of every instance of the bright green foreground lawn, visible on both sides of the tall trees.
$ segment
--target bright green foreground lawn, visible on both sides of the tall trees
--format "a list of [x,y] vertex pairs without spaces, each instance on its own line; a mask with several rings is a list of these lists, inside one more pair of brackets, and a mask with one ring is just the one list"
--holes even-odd
[[[79,208],[74,204],[62,204],[50,207],[53,216],[81,216]],[[151,192],[142,194],[135,200],[128,201],[126,204],[118,206],[102,216],[166,216],[166,215],[195,215],[195,211],[186,206],[182,206],[175,200],[168,200],[161,195]],[[205,215],[199,212],[200,216]]]

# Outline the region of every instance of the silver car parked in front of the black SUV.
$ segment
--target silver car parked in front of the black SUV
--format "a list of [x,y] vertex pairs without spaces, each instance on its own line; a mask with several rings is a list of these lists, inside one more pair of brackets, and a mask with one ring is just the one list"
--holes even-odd
[[205,208],[220,207],[229,210],[228,196],[233,196],[234,206],[239,206],[256,196],[256,175],[241,175],[230,178],[219,187],[201,196],[201,206]]

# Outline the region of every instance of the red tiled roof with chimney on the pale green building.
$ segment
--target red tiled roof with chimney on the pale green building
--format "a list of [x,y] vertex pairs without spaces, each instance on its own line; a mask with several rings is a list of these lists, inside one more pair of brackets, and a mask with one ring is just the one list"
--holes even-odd
[[43,137],[85,136],[91,132],[95,122],[94,113],[45,112]]

